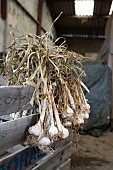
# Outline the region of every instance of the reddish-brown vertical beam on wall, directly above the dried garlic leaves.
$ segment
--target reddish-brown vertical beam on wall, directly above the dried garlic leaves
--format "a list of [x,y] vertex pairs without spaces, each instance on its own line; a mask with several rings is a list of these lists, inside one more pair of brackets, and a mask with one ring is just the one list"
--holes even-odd
[[42,24],[42,0],[38,1],[38,21],[39,24],[37,25],[37,35],[41,35],[41,24]]

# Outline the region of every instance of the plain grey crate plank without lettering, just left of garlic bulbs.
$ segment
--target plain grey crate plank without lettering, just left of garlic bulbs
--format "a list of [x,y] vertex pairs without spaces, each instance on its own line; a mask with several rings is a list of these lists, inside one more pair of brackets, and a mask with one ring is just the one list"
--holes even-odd
[[36,123],[37,114],[0,123],[0,152],[13,147],[25,140],[28,126]]

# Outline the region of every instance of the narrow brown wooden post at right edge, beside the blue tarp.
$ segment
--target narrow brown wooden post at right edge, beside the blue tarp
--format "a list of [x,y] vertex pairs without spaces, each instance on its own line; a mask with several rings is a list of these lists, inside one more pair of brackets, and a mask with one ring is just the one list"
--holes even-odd
[[112,70],[112,80],[111,80],[111,129],[113,129],[113,18],[111,20],[108,66]]

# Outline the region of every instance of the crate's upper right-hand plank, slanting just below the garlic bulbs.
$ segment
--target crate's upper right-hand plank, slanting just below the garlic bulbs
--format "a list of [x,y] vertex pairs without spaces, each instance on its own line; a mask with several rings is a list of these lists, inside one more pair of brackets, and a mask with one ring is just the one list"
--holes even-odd
[[32,170],[53,170],[56,169],[61,163],[71,157],[71,145],[72,142],[69,142],[67,145],[60,147],[50,153],[49,155],[42,158],[38,161]]

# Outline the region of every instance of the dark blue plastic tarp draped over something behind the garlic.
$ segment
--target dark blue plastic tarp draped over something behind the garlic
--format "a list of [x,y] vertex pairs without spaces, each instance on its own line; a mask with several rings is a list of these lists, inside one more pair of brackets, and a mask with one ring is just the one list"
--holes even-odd
[[90,93],[84,91],[91,106],[90,118],[83,125],[83,131],[100,135],[110,124],[111,70],[97,61],[83,63],[86,77],[83,82]]

